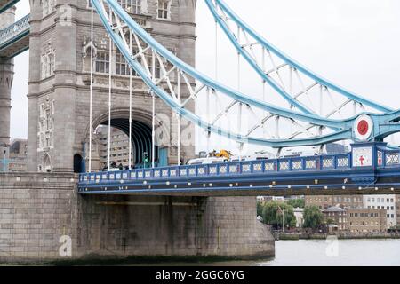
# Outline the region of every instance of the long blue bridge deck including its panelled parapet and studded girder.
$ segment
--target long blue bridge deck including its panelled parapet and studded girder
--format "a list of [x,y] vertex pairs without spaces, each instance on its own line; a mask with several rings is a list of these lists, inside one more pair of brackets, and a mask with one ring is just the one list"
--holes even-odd
[[82,194],[296,195],[400,192],[398,150],[378,149],[372,165],[353,154],[222,162],[81,174]]

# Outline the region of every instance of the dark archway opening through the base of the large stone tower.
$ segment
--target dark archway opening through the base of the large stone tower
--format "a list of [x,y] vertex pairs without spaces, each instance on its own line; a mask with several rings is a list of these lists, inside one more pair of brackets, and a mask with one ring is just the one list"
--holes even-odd
[[[116,118],[111,120],[111,144],[110,162],[111,167],[129,167],[129,120]],[[152,158],[152,138],[151,127],[140,121],[132,121],[132,168],[151,167]],[[100,167],[107,167],[108,163],[108,121],[100,123],[98,127],[98,137],[100,139]],[[156,166],[159,164],[158,147],[155,151]],[[146,163],[146,156],[148,162]]]

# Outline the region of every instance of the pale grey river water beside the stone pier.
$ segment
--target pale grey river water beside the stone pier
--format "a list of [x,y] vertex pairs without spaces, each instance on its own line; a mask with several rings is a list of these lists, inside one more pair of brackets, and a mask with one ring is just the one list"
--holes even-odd
[[251,262],[229,261],[156,265],[391,266],[400,265],[400,240],[276,241],[276,257],[271,259]]

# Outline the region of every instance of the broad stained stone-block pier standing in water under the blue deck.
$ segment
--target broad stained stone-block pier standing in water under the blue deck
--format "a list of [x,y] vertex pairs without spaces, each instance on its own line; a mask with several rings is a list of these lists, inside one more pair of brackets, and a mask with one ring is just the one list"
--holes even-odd
[[[70,236],[72,257],[61,257]],[[72,174],[0,174],[0,261],[275,255],[254,197],[80,196]]]

